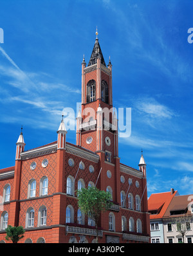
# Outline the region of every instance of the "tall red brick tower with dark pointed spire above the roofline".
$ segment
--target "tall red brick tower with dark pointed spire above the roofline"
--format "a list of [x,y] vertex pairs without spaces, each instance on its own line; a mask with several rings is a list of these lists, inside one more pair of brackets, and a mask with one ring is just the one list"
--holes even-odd
[[103,152],[105,161],[118,157],[117,118],[113,109],[112,64],[106,66],[96,31],[93,52],[82,61],[82,111],[77,116],[77,145]]

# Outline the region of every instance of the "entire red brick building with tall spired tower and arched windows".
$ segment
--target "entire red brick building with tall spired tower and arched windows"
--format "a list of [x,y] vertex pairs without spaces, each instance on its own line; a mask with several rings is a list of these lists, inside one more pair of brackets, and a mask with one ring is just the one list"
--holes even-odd
[[150,241],[146,164],[143,155],[138,169],[120,163],[116,114],[104,117],[105,108],[113,109],[112,90],[112,64],[106,65],[96,35],[89,63],[82,61],[77,143],[67,142],[62,117],[57,141],[49,144],[25,151],[21,132],[15,166],[0,170],[1,242],[8,224],[24,227],[20,242],[96,242],[95,223],[78,209],[76,194],[95,185],[113,197],[101,214],[98,242]]

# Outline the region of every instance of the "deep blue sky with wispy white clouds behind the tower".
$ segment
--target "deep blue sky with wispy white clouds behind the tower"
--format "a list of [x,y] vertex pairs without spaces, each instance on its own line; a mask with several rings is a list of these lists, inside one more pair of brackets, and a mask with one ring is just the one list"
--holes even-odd
[[[81,63],[98,39],[113,64],[113,104],[131,108],[120,161],[147,163],[147,189],[193,193],[191,0],[2,0],[0,168],[14,166],[23,125],[26,150],[57,139],[64,107],[81,101]],[[75,132],[68,131],[75,143]]]

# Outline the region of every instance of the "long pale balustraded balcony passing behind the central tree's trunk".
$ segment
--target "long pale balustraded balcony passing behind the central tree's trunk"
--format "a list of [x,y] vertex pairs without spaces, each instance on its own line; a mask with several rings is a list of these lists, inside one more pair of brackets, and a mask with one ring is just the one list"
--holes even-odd
[[[74,224],[74,226],[73,226],[73,223],[66,224],[66,232],[78,233],[78,234],[81,234],[81,235],[96,235],[95,227],[93,227],[93,228],[84,228],[84,227],[81,227],[81,225],[77,226],[76,224]],[[103,235],[103,231],[98,230],[98,236],[102,237],[102,235]]]

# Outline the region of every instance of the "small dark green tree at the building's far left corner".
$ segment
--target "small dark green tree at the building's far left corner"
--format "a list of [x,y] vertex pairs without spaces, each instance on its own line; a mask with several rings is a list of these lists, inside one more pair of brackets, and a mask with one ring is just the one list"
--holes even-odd
[[5,239],[8,241],[11,240],[14,244],[17,244],[17,242],[24,237],[24,232],[25,232],[23,226],[13,227],[11,225],[8,225],[5,231],[6,231]]

